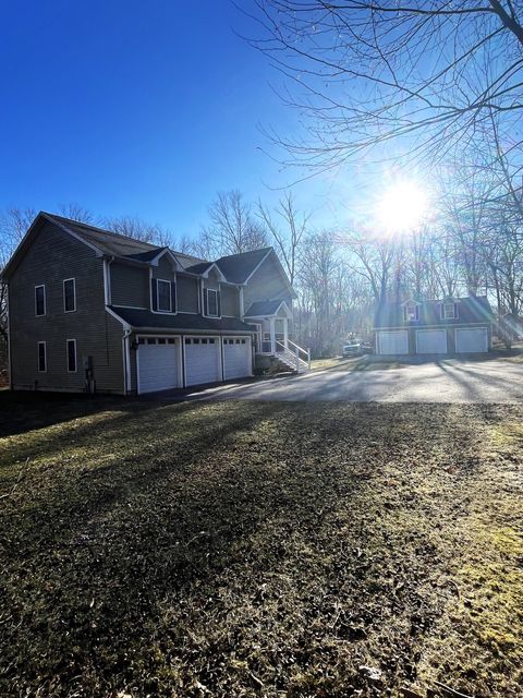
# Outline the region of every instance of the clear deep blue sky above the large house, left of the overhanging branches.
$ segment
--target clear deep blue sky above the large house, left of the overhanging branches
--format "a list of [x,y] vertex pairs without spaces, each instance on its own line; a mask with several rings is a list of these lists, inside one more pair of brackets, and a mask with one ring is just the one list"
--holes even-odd
[[[276,203],[268,188],[296,179],[259,127],[289,133],[299,117],[229,0],[26,0],[0,16],[0,208],[74,202],[191,236],[218,190]],[[331,192],[296,188],[319,225]]]

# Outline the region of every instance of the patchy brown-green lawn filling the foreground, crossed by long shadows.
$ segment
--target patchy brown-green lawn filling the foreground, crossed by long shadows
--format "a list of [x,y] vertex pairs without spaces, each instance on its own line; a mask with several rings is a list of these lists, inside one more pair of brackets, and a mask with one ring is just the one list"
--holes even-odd
[[519,406],[2,395],[0,437],[4,698],[521,696]]

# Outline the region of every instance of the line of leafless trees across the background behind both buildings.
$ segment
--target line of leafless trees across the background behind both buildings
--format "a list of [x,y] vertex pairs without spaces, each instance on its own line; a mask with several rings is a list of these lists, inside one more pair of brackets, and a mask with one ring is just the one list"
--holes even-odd
[[[317,230],[292,193],[272,208],[236,190],[219,193],[196,238],[133,217],[100,219],[77,205],[58,213],[206,260],[272,245],[297,293],[296,341],[328,356],[351,335],[368,334],[381,302],[487,294],[499,316],[522,313],[521,186],[495,168],[466,165],[452,178],[440,171],[434,182],[427,220],[402,234],[370,222]],[[0,264],[35,215],[11,208],[0,216]],[[3,298],[3,338],[4,305]]]

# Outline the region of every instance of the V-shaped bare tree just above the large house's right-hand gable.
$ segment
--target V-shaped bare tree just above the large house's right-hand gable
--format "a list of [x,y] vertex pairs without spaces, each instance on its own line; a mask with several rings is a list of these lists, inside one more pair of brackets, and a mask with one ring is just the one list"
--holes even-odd
[[288,192],[271,213],[258,201],[257,213],[264,227],[270,232],[276,242],[277,252],[283,262],[283,267],[291,285],[294,284],[300,246],[304,239],[311,214],[296,210],[291,192]]

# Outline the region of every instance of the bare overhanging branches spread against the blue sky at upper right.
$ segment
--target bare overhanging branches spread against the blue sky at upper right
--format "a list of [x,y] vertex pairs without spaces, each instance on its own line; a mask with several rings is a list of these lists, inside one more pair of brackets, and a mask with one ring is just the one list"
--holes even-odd
[[[513,0],[255,0],[251,43],[283,76],[303,136],[269,134],[317,169],[375,153],[441,158],[523,103],[523,7]],[[390,156],[390,152],[387,153]],[[289,160],[288,160],[289,161]]]

